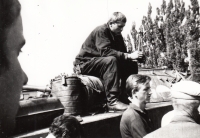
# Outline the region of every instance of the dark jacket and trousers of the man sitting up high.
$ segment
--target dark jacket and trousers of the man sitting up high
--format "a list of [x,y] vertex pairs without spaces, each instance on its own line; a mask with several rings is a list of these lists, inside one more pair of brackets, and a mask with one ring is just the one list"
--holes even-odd
[[102,79],[108,103],[119,96],[130,74],[138,73],[137,62],[127,60],[122,35],[115,35],[107,24],[95,28],[83,43],[74,62],[75,71]]

